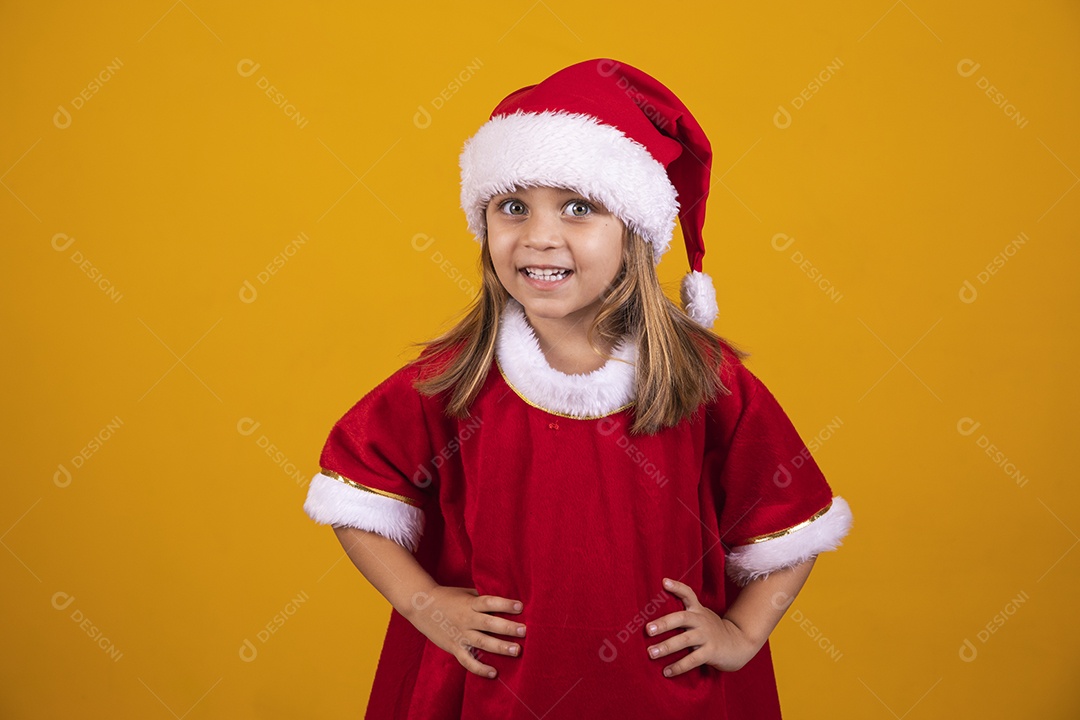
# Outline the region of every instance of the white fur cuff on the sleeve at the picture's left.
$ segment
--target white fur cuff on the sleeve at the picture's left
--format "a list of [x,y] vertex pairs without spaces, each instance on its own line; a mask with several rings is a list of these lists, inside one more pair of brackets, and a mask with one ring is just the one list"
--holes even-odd
[[320,525],[377,532],[414,553],[423,534],[423,511],[419,507],[350,487],[322,473],[308,486],[303,512]]

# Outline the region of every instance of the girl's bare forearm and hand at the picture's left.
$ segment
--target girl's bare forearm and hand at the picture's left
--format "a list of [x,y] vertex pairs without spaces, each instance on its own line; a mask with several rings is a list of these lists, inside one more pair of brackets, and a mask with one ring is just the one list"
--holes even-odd
[[473,655],[474,649],[521,654],[519,644],[488,635],[525,635],[525,625],[488,614],[517,614],[522,611],[519,601],[481,596],[471,587],[440,585],[408,549],[380,534],[347,527],[335,527],[334,532],[352,563],[394,610],[470,673],[485,678],[496,674]]

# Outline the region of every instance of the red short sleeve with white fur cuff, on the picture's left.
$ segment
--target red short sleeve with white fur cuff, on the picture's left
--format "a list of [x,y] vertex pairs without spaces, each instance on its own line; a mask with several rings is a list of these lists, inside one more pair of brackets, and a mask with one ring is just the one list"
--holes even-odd
[[415,371],[402,368],[349,409],[330,430],[305,512],[322,525],[376,532],[416,552],[432,458]]

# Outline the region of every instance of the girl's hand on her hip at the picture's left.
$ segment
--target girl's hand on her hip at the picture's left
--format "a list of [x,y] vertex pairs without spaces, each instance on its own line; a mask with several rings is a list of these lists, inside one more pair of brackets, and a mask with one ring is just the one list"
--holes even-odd
[[517,657],[522,652],[519,644],[494,638],[488,633],[519,638],[525,636],[525,625],[487,613],[516,614],[521,611],[522,603],[517,600],[481,596],[471,587],[436,585],[413,597],[413,610],[407,619],[429,640],[457,657],[467,670],[494,678],[495,668],[481,663],[473,654],[474,649]]

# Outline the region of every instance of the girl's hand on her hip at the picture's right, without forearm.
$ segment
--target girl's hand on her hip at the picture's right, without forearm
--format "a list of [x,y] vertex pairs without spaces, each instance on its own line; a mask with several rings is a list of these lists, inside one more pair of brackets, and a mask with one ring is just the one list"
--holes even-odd
[[676,627],[687,629],[659,644],[649,646],[649,656],[660,658],[684,648],[693,650],[677,663],[665,667],[664,676],[673,678],[701,665],[718,670],[738,670],[761,649],[764,643],[756,643],[734,623],[701,604],[689,585],[665,578],[664,589],[683,600],[686,610],[658,617],[649,623],[646,631],[649,635],[660,635]]

